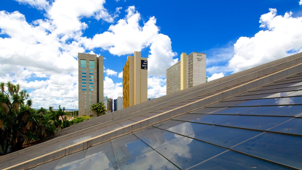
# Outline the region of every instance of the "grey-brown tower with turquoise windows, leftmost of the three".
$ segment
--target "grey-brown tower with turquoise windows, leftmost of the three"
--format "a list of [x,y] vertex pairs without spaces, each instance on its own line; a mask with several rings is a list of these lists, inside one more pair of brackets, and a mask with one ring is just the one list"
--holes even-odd
[[104,96],[104,57],[78,53],[79,60],[79,116],[94,116],[91,105]]

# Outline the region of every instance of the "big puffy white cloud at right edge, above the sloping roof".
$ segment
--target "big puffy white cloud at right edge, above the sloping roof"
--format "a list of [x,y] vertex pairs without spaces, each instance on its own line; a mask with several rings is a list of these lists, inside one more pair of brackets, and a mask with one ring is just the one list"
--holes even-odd
[[228,62],[233,73],[302,52],[302,17],[293,18],[292,12],[277,15],[276,9],[261,15],[259,23],[265,31],[254,37],[240,37],[234,44],[234,57]]

